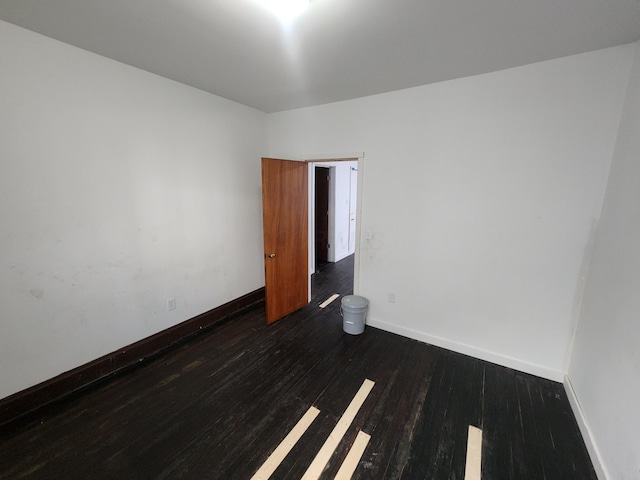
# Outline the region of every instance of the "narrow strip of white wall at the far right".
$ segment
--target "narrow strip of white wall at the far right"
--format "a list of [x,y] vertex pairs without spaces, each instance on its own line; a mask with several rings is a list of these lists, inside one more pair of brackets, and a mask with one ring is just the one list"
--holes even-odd
[[568,373],[612,480],[640,478],[640,43],[635,51]]

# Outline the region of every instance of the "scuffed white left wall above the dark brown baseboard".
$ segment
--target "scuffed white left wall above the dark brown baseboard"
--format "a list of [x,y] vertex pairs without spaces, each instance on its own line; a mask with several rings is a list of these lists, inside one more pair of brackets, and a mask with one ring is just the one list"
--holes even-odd
[[0,397],[264,285],[266,127],[0,22]]

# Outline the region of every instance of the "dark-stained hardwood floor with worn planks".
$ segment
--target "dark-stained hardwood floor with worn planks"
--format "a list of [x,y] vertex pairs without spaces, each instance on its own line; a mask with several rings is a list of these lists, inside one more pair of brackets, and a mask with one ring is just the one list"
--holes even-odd
[[322,479],[359,430],[355,479],[596,479],[561,384],[367,327],[342,331],[353,258],[322,265],[313,301],[271,326],[264,306],[0,432],[1,479],[250,479],[310,406],[320,414],[272,478],[299,479],[364,379],[375,382]]

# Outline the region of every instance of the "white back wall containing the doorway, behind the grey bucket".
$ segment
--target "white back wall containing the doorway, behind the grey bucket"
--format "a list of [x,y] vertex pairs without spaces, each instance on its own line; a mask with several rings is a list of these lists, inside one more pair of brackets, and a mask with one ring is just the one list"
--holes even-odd
[[632,50],[269,115],[272,156],[364,151],[369,323],[563,379]]

